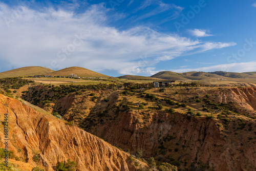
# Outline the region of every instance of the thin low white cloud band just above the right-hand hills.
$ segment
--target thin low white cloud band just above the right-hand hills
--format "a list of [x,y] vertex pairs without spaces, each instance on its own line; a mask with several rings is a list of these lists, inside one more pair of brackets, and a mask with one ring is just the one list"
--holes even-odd
[[227,63],[221,65],[215,65],[210,67],[200,67],[200,68],[190,68],[190,69],[178,69],[170,70],[173,72],[190,72],[190,71],[204,71],[204,72],[214,72],[214,71],[227,71],[227,72],[255,72],[256,71],[256,61],[251,62],[241,62],[241,63]]

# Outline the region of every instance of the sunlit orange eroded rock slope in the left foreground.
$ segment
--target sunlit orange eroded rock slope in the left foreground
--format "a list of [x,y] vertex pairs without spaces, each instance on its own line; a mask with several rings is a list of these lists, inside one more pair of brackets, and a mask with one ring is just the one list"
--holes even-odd
[[[137,170],[128,154],[103,140],[1,94],[0,113],[1,121],[5,113],[9,116],[9,150],[32,166],[53,170],[58,162],[71,159],[79,170]],[[3,141],[3,131],[0,135]]]

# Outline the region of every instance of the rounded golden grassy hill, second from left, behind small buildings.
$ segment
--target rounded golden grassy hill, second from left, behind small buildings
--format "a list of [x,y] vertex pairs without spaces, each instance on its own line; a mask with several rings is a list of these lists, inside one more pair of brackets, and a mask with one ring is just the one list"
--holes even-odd
[[70,74],[76,74],[78,77],[110,77],[82,67],[69,67],[51,73],[52,76],[69,76]]

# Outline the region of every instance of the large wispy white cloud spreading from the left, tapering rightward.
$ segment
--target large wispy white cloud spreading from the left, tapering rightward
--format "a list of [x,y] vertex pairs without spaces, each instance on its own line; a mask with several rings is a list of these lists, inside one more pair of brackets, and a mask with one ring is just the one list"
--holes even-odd
[[[115,70],[120,74],[150,75],[157,72],[152,66],[162,60],[233,46],[159,33],[142,26],[120,31],[109,26],[118,14],[110,15],[103,4],[92,5],[78,15],[61,9],[36,11],[23,7],[12,18],[15,9],[0,3],[0,15],[4,16],[0,19],[0,67],[5,70],[79,66],[102,73]],[[146,57],[141,59],[141,55]]]

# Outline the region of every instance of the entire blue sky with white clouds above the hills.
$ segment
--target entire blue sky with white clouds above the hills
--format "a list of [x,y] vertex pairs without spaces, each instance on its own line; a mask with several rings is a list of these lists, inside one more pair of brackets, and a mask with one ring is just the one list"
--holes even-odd
[[256,0],[14,0],[0,16],[0,72],[256,71]]

